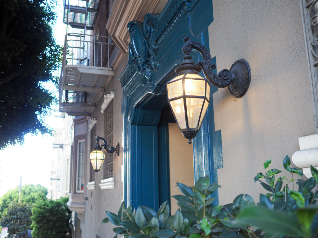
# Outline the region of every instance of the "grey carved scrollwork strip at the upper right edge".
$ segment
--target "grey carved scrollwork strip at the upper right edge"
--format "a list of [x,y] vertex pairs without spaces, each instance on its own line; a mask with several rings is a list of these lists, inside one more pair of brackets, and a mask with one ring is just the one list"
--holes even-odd
[[312,89],[315,103],[316,127],[318,128],[318,0],[303,0],[307,32]]

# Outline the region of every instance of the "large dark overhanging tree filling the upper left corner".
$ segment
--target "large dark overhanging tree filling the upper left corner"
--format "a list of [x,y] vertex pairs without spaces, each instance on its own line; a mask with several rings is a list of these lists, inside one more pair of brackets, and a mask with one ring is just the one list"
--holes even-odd
[[54,96],[41,82],[57,83],[61,48],[52,35],[56,0],[0,1],[0,148],[24,135],[50,133],[43,122]]

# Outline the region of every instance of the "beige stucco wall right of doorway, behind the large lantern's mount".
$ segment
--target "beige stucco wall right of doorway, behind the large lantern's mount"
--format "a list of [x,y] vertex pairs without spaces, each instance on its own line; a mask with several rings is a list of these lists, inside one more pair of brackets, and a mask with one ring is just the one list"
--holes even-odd
[[299,150],[298,138],[316,134],[308,51],[299,1],[213,0],[209,26],[217,70],[238,59],[251,66],[243,98],[227,88],[213,94],[215,130],[221,130],[223,169],[218,169],[220,204],[266,191],[254,176],[263,162],[283,170],[285,155]]

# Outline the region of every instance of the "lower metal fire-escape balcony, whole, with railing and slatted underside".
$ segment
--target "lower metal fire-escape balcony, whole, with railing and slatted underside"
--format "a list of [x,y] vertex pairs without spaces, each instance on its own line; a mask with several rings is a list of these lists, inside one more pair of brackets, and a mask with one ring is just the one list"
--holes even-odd
[[69,33],[65,36],[59,82],[59,110],[70,116],[90,116],[114,75],[109,56],[114,48],[107,36]]

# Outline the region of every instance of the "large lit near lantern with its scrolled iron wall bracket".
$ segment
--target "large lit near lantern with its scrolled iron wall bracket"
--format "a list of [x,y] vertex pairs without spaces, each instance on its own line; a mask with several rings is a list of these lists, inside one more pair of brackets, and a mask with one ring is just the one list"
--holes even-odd
[[[218,88],[229,87],[230,93],[240,98],[245,95],[251,82],[251,69],[246,60],[240,59],[232,64],[230,70],[223,69],[216,76],[212,69],[211,55],[200,43],[191,42],[188,37],[184,38],[183,61],[175,68],[178,74],[167,83],[168,102],[178,123],[183,136],[189,139],[194,138],[203,121],[205,112],[210,102],[210,85]],[[195,64],[191,60],[190,52],[197,50],[203,57],[202,62]],[[199,76],[203,70],[204,76]]]

